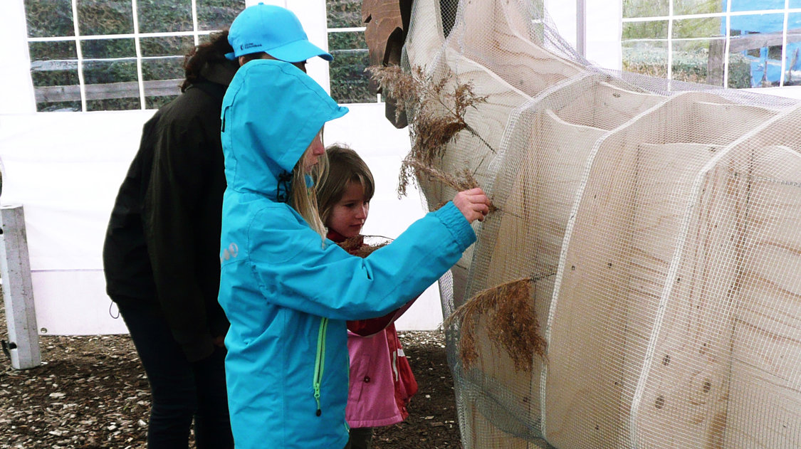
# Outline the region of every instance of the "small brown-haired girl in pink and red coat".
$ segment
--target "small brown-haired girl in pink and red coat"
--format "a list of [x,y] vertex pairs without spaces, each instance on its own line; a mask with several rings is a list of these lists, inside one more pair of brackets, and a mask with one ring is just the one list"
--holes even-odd
[[[332,145],[326,154],[328,177],[317,189],[320,218],[328,227],[328,239],[358,246],[375,191],[372,173],[350,148]],[[368,449],[372,427],[400,423],[409,415],[406,405],[417,393],[417,382],[394,321],[413,301],[380,318],[348,321],[350,392],[345,417],[351,427],[351,449]]]

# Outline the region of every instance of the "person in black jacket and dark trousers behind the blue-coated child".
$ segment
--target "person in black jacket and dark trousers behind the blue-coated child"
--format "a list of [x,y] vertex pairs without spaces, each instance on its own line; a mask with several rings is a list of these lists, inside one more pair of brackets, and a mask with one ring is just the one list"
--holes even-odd
[[220,108],[238,62],[227,32],[187,54],[182,94],[143,127],[111,213],[103,267],[151,385],[147,447],[233,447],[217,303],[226,187]]

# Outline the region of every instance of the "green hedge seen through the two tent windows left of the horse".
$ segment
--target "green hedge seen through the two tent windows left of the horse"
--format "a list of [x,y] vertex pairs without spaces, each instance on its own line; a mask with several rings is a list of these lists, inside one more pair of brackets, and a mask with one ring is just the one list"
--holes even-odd
[[[70,0],[26,0],[30,38],[70,38],[74,36]],[[133,34],[131,0],[78,0],[80,34]],[[196,0],[198,29],[220,30],[244,8],[243,0]],[[188,0],[138,0],[139,33],[167,33],[192,30],[191,2]],[[328,27],[361,27],[361,0],[328,0]],[[200,41],[207,40],[201,36]],[[143,56],[144,81],[183,78],[183,54],[194,45],[191,36],[139,38]],[[83,78],[88,84],[135,82],[136,47],[134,38],[89,39],[80,42]],[[376,102],[369,90],[367,43],[363,32],[331,33],[328,46],[334,55],[330,65],[331,94],[338,102]],[[30,42],[31,78],[34,86],[65,86],[77,92],[78,49],[74,40]],[[177,84],[177,83],[176,83]],[[176,90],[177,92],[177,90]],[[87,102],[89,110],[140,109],[139,93],[129,98],[107,98]],[[175,96],[153,96],[145,91],[145,106],[157,108]],[[81,110],[81,102],[37,101],[37,109]]]

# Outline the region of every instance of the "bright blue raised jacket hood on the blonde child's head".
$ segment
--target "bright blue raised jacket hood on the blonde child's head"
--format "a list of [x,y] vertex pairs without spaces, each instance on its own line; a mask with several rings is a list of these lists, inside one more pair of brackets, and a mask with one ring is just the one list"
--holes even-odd
[[272,59],[247,62],[223,98],[228,188],[275,200],[279,179],[292,173],[325,122],[347,113],[296,66]]

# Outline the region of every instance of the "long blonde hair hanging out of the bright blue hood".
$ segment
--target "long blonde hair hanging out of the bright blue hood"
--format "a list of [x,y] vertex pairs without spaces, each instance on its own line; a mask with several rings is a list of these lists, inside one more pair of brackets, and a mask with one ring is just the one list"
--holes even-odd
[[[304,151],[304,154],[300,156],[300,160],[295,164],[295,168],[292,169],[292,186],[290,187],[289,205],[306,220],[309,227],[317,234],[320,234],[320,237],[325,239],[325,235],[328,231],[326,231],[325,225],[320,219],[320,210],[317,208],[316,186],[324,182],[326,174],[328,173],[328,157],[323,154],[320,156],[317,163],[307,170],[304,160],[309,151],[311,151],[311,146]],[[311,187],[306,185],[307,175],[310,176],[314,182],[314,185]]]

